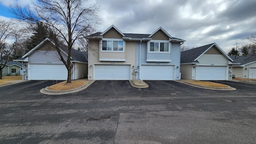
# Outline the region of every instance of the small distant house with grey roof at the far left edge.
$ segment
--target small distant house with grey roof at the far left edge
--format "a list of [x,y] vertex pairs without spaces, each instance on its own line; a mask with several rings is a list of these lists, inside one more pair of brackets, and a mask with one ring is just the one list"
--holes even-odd
[[[4,64],[5,60],[1,64]],[[2,69],[2,76],[17,76],[22,70],[21,62],[8,61]]]

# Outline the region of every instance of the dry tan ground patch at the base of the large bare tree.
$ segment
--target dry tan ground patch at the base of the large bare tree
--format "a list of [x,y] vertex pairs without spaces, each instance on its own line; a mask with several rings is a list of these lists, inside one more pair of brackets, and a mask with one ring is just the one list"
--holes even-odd
[[67,83],[67,81],[64,82],[60,82],[58,84],[54,84],[52,86],[49,86],[47,89],[48,90],[73,90],[76,88],[79,88],[81,86],[83,86],[84,84],[86,84],[86,81],[72,81],[71,83]]

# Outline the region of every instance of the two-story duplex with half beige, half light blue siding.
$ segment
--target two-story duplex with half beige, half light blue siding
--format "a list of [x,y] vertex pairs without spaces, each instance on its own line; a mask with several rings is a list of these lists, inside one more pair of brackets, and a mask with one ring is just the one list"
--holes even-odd
[[180,80],[180,43],[163,28],[122,33],[114,25],[88,37],[89,80]]

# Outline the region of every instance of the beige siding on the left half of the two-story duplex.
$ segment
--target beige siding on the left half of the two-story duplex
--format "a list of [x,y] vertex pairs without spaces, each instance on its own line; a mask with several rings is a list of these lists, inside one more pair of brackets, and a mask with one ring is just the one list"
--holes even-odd
[[[125,48],[125,54],[126,54],[126,61],[125,62],[106,62],[106,61],[99,61],[99,52],[100,52],[100,40],[89,40],[89,49],[88,49],[88,79],[93,80],[94,79],[94,64],[128,64],[132,66],[135,66],[135,48],[136,48],[136,42],[128,41],[126,42],[126,48]],[[111,57],[109,57],[111,58]],[[92,66],[92,68],[90,68]],[[133,69],[131,68],[133,71]],[[131,78],[132,78],[132,72],[131,72]]]

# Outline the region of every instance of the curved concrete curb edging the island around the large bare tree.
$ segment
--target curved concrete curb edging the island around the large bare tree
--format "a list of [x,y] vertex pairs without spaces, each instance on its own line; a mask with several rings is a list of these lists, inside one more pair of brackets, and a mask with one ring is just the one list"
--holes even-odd
[[60,94],[70,94],[73,92],[79,92],[81,90],[86,89],[88,86],[90,86],[92,83],[94,83],[95,80],[90,80],[89,82],[87,82],[86,84],[80,86],[79,88],[75,88],[72,90],[59,90],[59,91],[55,91],[55,90],[48,90],[48,86],[46,88],[42,88],[40,90],[40,92],[42,94],[48,94],[48,95],[60,95]]

